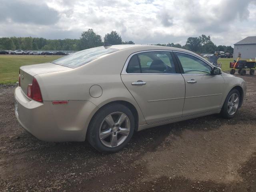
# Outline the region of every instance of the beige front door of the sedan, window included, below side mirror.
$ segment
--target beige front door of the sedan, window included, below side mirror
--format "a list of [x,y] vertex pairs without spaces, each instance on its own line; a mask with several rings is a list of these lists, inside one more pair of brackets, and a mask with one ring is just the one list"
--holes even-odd
[[210,112],[221,108],[224,79],[212,75],[212,66],[203,59],[184,52],[174,52],[186,84],[182,116]]

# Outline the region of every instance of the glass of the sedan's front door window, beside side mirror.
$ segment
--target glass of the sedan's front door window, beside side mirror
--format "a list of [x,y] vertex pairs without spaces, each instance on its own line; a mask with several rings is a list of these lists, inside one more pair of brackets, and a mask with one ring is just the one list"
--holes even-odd
[[176,53],[185,74],[211,74],[212,68],[195,56]]

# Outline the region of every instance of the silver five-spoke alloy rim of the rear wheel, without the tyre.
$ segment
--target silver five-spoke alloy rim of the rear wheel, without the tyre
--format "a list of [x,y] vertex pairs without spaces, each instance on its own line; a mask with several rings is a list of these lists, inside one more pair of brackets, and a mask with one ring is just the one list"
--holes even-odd
[[104,146],[121,145],[130,133],[130,120],[123,112],[109,114],[100,125],[99,138]]

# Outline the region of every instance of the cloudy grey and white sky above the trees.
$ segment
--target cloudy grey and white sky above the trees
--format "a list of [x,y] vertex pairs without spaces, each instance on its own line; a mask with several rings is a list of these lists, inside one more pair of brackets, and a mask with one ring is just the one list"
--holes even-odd
[[256,0],[0,0],[0,37],[79,38],[116,30],[137,44],[210,35],[217,45],[256,36]]

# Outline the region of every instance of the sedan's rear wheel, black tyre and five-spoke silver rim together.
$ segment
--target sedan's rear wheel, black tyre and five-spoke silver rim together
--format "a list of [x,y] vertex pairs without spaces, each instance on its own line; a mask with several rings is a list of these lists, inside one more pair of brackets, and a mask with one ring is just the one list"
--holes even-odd
[[101,108],[88,127],[87,140],[98,151],[113,153],[121,150],[132,138],[134,116],[122,104]]

